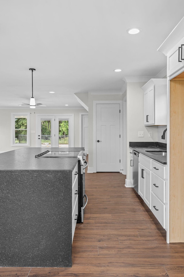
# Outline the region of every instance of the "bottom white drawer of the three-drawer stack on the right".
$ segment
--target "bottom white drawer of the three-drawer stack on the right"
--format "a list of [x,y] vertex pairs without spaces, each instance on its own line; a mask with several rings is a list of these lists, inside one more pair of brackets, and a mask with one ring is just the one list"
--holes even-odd
[[166,224],[166,207],[165,204],[158,199],[157,196],[151,193],[151,203],[152,203],[152,208],[151,211],[154,214],[154,216],[158,219],[162,227],[165,229],[165,224]]

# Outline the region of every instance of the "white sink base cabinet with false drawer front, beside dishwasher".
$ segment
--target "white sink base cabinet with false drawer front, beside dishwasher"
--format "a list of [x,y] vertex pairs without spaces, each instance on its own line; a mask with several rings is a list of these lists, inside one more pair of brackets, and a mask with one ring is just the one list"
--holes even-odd
[[139,154],[138,193],[149,208],[151,208],[151,170],[150,169],[151,169],[151,159]]

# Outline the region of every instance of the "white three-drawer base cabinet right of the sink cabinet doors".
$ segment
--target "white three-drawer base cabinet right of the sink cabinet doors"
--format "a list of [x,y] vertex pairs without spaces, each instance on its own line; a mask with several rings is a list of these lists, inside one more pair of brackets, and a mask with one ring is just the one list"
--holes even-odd
[[151,163],[151,211],[166,228],[166,166],[154,160]]

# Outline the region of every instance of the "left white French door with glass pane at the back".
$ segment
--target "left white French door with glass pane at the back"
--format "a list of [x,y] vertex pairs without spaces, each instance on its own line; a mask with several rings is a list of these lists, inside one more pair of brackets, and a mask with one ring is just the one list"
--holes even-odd
[[37,147],[55,147],[55,121],[53,115],[38,115]]

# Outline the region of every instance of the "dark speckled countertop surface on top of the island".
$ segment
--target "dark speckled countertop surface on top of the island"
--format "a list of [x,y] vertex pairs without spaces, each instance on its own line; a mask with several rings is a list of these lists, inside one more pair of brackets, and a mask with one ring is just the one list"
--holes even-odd
[[46,150],[78,151],[84,147],[24,147],[0,154],[0,170],[73,170],[77,157],[72,158],[35,158]]

